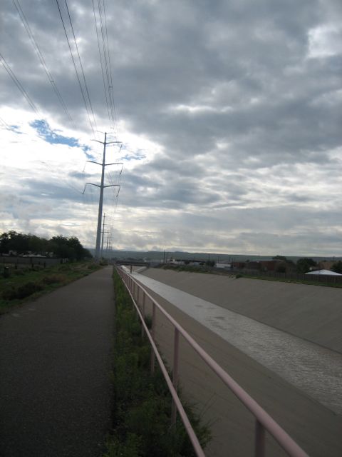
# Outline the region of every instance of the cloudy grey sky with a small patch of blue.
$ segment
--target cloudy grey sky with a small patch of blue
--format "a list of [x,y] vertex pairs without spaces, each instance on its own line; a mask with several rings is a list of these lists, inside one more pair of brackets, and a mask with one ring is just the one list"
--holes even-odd
[[95,246],[108,132],[105,247],[342,256],[340,0],[0,14],[0,233]]

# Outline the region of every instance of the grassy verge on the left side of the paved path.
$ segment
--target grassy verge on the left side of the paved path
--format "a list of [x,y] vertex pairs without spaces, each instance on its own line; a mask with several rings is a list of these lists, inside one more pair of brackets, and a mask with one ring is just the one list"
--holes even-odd
[[[76,281],[101,268],[92,262],[63,263],[43,268],[33,266],[15,268],[13,265],[0,267],[0,314],[15,306],[33,300],[44,293]],[[8,277],[4,277],[7,276]]]

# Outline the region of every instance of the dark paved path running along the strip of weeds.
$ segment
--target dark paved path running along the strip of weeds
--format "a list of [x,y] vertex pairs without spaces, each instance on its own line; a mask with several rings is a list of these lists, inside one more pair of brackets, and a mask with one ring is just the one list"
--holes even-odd
[[0,318],[0,456],[96,457],[110,427],[112,268]]

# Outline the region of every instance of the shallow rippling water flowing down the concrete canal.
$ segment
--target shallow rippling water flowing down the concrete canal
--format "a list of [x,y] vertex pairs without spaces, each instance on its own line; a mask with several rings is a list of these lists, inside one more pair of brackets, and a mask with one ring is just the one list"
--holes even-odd
[[335,413],[342,414],[342,355],[135,273],[141,283]]

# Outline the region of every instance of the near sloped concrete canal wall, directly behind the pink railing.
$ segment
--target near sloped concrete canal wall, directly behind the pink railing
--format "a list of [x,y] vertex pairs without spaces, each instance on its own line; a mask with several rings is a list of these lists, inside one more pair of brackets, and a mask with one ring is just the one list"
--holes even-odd
[[[146,272],[147,273],[147,272]],[[149,272],[151,274],[151,272]],[[139,281],[139,276],[136,278]],[[148,288],[147,288],[148,290]],[[255,361],[234,345],[210,331],[187,313],[150,290],[152,296],[192,335],[311,457],[342,455],[342,416],[307,396],[274,371]],[[142,294],[140,294],[142,306]],[[152,313],[150,300],[145,312]],[[155,339],[172,367],[174,330],[165,316],[156,312]],[[212,373],[197,353],[180,338],[180,383],[184,398],[195,404],[202,421],[212,431],[208,457],[252,456],[254,420],[247,408]],[[266,457],[287,454],[266,433]]]

